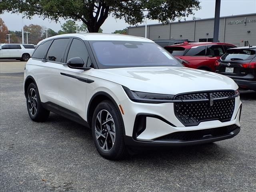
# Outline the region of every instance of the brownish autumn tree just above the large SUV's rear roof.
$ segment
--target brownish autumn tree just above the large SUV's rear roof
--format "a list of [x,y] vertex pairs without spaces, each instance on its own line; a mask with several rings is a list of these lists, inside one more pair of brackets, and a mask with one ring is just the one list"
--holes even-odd
[[25,25],[24,31],[30,32],[30,34],[28,34],[28,43],[37,44],[40,40],[43,39],[44,29],[40,25]]

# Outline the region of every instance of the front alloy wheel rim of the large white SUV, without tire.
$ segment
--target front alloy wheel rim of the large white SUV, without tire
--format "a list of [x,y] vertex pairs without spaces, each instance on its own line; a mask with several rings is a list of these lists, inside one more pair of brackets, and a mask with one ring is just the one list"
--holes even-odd
[[100,110],[95,120],[96,140],[100,148],[110,151],[115,143],[116,128],[112,115],[107,110]]

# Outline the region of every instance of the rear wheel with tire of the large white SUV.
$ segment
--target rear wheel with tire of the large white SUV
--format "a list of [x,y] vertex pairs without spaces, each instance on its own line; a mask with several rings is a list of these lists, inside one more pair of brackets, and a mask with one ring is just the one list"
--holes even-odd
[[33,121],[44,122],[50,111],[43,108],[36,84],[31,83],[26,92],[28,114]]

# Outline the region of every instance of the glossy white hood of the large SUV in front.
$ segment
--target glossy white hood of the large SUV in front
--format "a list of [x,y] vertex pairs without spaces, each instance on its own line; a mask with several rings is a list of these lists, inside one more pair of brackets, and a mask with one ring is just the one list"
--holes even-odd
[[185,67],[96,69],[90,76],[118,83],[130,90],[161,94],[238,89],[227,76]]

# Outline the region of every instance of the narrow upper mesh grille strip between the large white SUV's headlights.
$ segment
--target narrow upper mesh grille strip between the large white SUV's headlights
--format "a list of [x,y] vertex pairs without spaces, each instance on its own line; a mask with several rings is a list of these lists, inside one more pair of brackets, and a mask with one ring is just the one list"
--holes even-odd
[[[212,94],[213,98],[223,98],[228,96],[233,96],[234,91],[214,91],[209,92]],[[191,93],[191,94],[182,94],[177,95],[174,99],[175,100],[196,100],[196,99],[208,99],[209,93]]]

